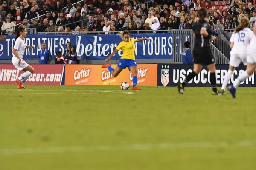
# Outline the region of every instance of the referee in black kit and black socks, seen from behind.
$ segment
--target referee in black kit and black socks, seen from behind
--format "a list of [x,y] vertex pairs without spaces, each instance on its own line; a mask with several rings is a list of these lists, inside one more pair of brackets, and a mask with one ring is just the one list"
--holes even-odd
[[215,61],[212,55],[212,49],[210,45],[210,40],[215,40],[216,37],[212,36],[212,29],[209,23],[205,20],[207,17],[207,9],[201,8],[198,11],[199,20],[192,27],[194,31],[195,47],[193,50],[194,57],[194,69],[192,73],[186,76],[186,79],[177,86],[180,94],[184,93],[184,87],[188,82],[198,75],[202,69],[202,65],[207,65],[210,71],[210,83],[212,85],[212,94],[218,94],[216,86],[216,75],[215,75]]

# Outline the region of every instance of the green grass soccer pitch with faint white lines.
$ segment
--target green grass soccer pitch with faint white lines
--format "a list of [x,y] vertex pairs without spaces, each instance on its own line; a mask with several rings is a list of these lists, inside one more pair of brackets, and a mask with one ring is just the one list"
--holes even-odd
[[255,170],[256,88],[0,85],[0,170]]

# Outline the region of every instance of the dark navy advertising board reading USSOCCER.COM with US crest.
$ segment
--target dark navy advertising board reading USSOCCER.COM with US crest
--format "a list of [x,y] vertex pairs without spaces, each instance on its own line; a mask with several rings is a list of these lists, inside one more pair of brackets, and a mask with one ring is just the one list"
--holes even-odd
[[[224,76],[227,74],[229,65],[216,65],[216,83],[221,86]],[[233,72],[229,84],[233,84],[238,75],[246,70],[246,66],[239,65]],[[157,86],[177,86],[184,81],[186,75],[193,71],[192,64],[158,64],[157,65]],[[248,77],[244,82],[241,82],[241,87],[256,87],[256,75]],[[188,87],[211,87],[210,72],[206,66],[203,66],[201,72],[189,81]]]

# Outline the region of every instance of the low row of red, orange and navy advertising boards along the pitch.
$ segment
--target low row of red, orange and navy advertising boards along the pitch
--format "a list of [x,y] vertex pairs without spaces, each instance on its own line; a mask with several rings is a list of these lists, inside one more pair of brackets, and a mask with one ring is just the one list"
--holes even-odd
[[[101,65],[32,65],[35,73],[26,84],[28,85],[120,85],[127,81],[132,83],[132,75],[128,69],[123,70],[119,76],[112,77],[108,69]],[[116,65],[113,65],[115,68]],[[169,86],[174,87],[192,72],[193,65],[184,64],[138,64],[139,86]],[[217,85],[221,86],[228,65],[216,65]],[[233,83],[246,67],[240,65],[233,73],[230,83]],[[0,84],[16,84],[15,79],[22,74],[11,64],[0,65]],[[209,70],[203,67],[200,74],[189,82],[189,86],[210,86]],[[241,82],[242,87],[256,87],[255,74]]]

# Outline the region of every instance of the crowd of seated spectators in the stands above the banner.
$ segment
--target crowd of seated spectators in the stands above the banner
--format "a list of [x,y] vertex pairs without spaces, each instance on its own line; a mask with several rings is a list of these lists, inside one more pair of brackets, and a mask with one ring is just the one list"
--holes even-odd
[[[233,29],[242,17],[256,20],[255,0],[7,0],[0,2],[0,28],[2,34],[15,29],[36,28],[37,32],[58,34],[93,34],[93,31],[145,30],[159,32],[168,29],[191,29],[198,20],[198,9],[207,8],[210,25],[223,25]],[[148,2],[148,3],[147,3]],[[76,3],[73,5],[73,3]],[[65,8],[66,7],[66,8]],[[44,15],[45,14],[45,15]],[[104,14],[104,15],[101,15]],[[43,17],[39,17],[44,15]],[[31,20],[33,18],[36,18]],[[31,20],[28,22],[28,20]],[[11,28],[12,27],[12,28]],[[18,26],[17,26],[18,27]],[[50,34],[50,33],[48,33]],[[53,34],[53,33],[52,33]],[[217,35],[217,34],[216,34]]]

